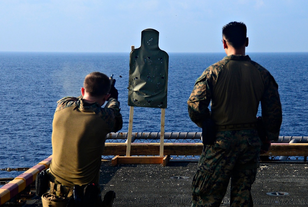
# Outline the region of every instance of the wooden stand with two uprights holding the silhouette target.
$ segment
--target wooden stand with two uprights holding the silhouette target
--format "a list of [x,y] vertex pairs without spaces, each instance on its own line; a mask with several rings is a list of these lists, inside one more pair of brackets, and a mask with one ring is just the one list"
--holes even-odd
[[[135,46],[132,46],[132,50]],[[160,153],[158,156],[131,156],[131,143],[132,143],[132,128],[133,128],[133,116],[134,107],[130,106],[129,109],[129,123],[128,123],[128,136],[127,136],[127,147],[126,156],[115,156],[111,160],[111,165],[116,166],[117,164],[162,164],[166,166],[170,160],[170,155],[164,156],[164,133],[165,133],[165,109],[161,108],[160,115]]]

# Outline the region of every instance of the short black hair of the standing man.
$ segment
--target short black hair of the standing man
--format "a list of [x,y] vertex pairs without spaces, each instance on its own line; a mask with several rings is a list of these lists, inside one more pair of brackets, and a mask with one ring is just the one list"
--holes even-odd
[[235,49],[246,42],[247,28],[243,22],[232,21],[222,27],[222,37]]

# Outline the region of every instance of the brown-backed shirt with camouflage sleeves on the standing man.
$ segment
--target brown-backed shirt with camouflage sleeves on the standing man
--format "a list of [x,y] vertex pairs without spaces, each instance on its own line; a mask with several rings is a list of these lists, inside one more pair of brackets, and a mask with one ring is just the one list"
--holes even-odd
[[187,101],[189,116],[199,127],[207,118],[217,125],[255,123],[260,102],[267,137],[277,140],[282,122],[278,84],[248,55],[226,56],[206,68]]

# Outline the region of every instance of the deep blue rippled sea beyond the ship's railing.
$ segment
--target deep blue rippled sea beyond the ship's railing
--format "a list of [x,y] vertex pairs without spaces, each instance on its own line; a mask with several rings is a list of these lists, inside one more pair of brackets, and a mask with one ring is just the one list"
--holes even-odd
[[[279,85],[283,110],[280,136],[308,136],[308,53],[248,53]],[[170,53],[165,132],[201,132],[187,112],[195,80],[225,53]],[[0,169],[32,167],[52,154],[52,119],[57,100],[79,96],[93,71],[111,76],[128,131],[129,53],[0,52]],[[259,113],[261,114],[261,113]],[[160,109],[134,108],[133,132],[159,132]],[[0,170],[0,178],[22,172]]]

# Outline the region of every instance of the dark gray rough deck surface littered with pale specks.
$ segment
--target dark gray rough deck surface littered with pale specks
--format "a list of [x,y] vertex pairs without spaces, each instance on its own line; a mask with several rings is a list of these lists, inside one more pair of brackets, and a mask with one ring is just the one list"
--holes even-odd
[[[252,187],[254,206],[308,206],[307,162],[261,163]],[[102,195],[116,192],[114,207],[186,207],[191,205],[190,187],[197,162],[170,161],[162,165],[117,165],[102,162]],[[172,179],[174,176],[188,178]],[[288,195],[267,195],[285,192]],[[31,207],[42,206],[40,199]],[[221,206],[229,206],[229,190]]]

